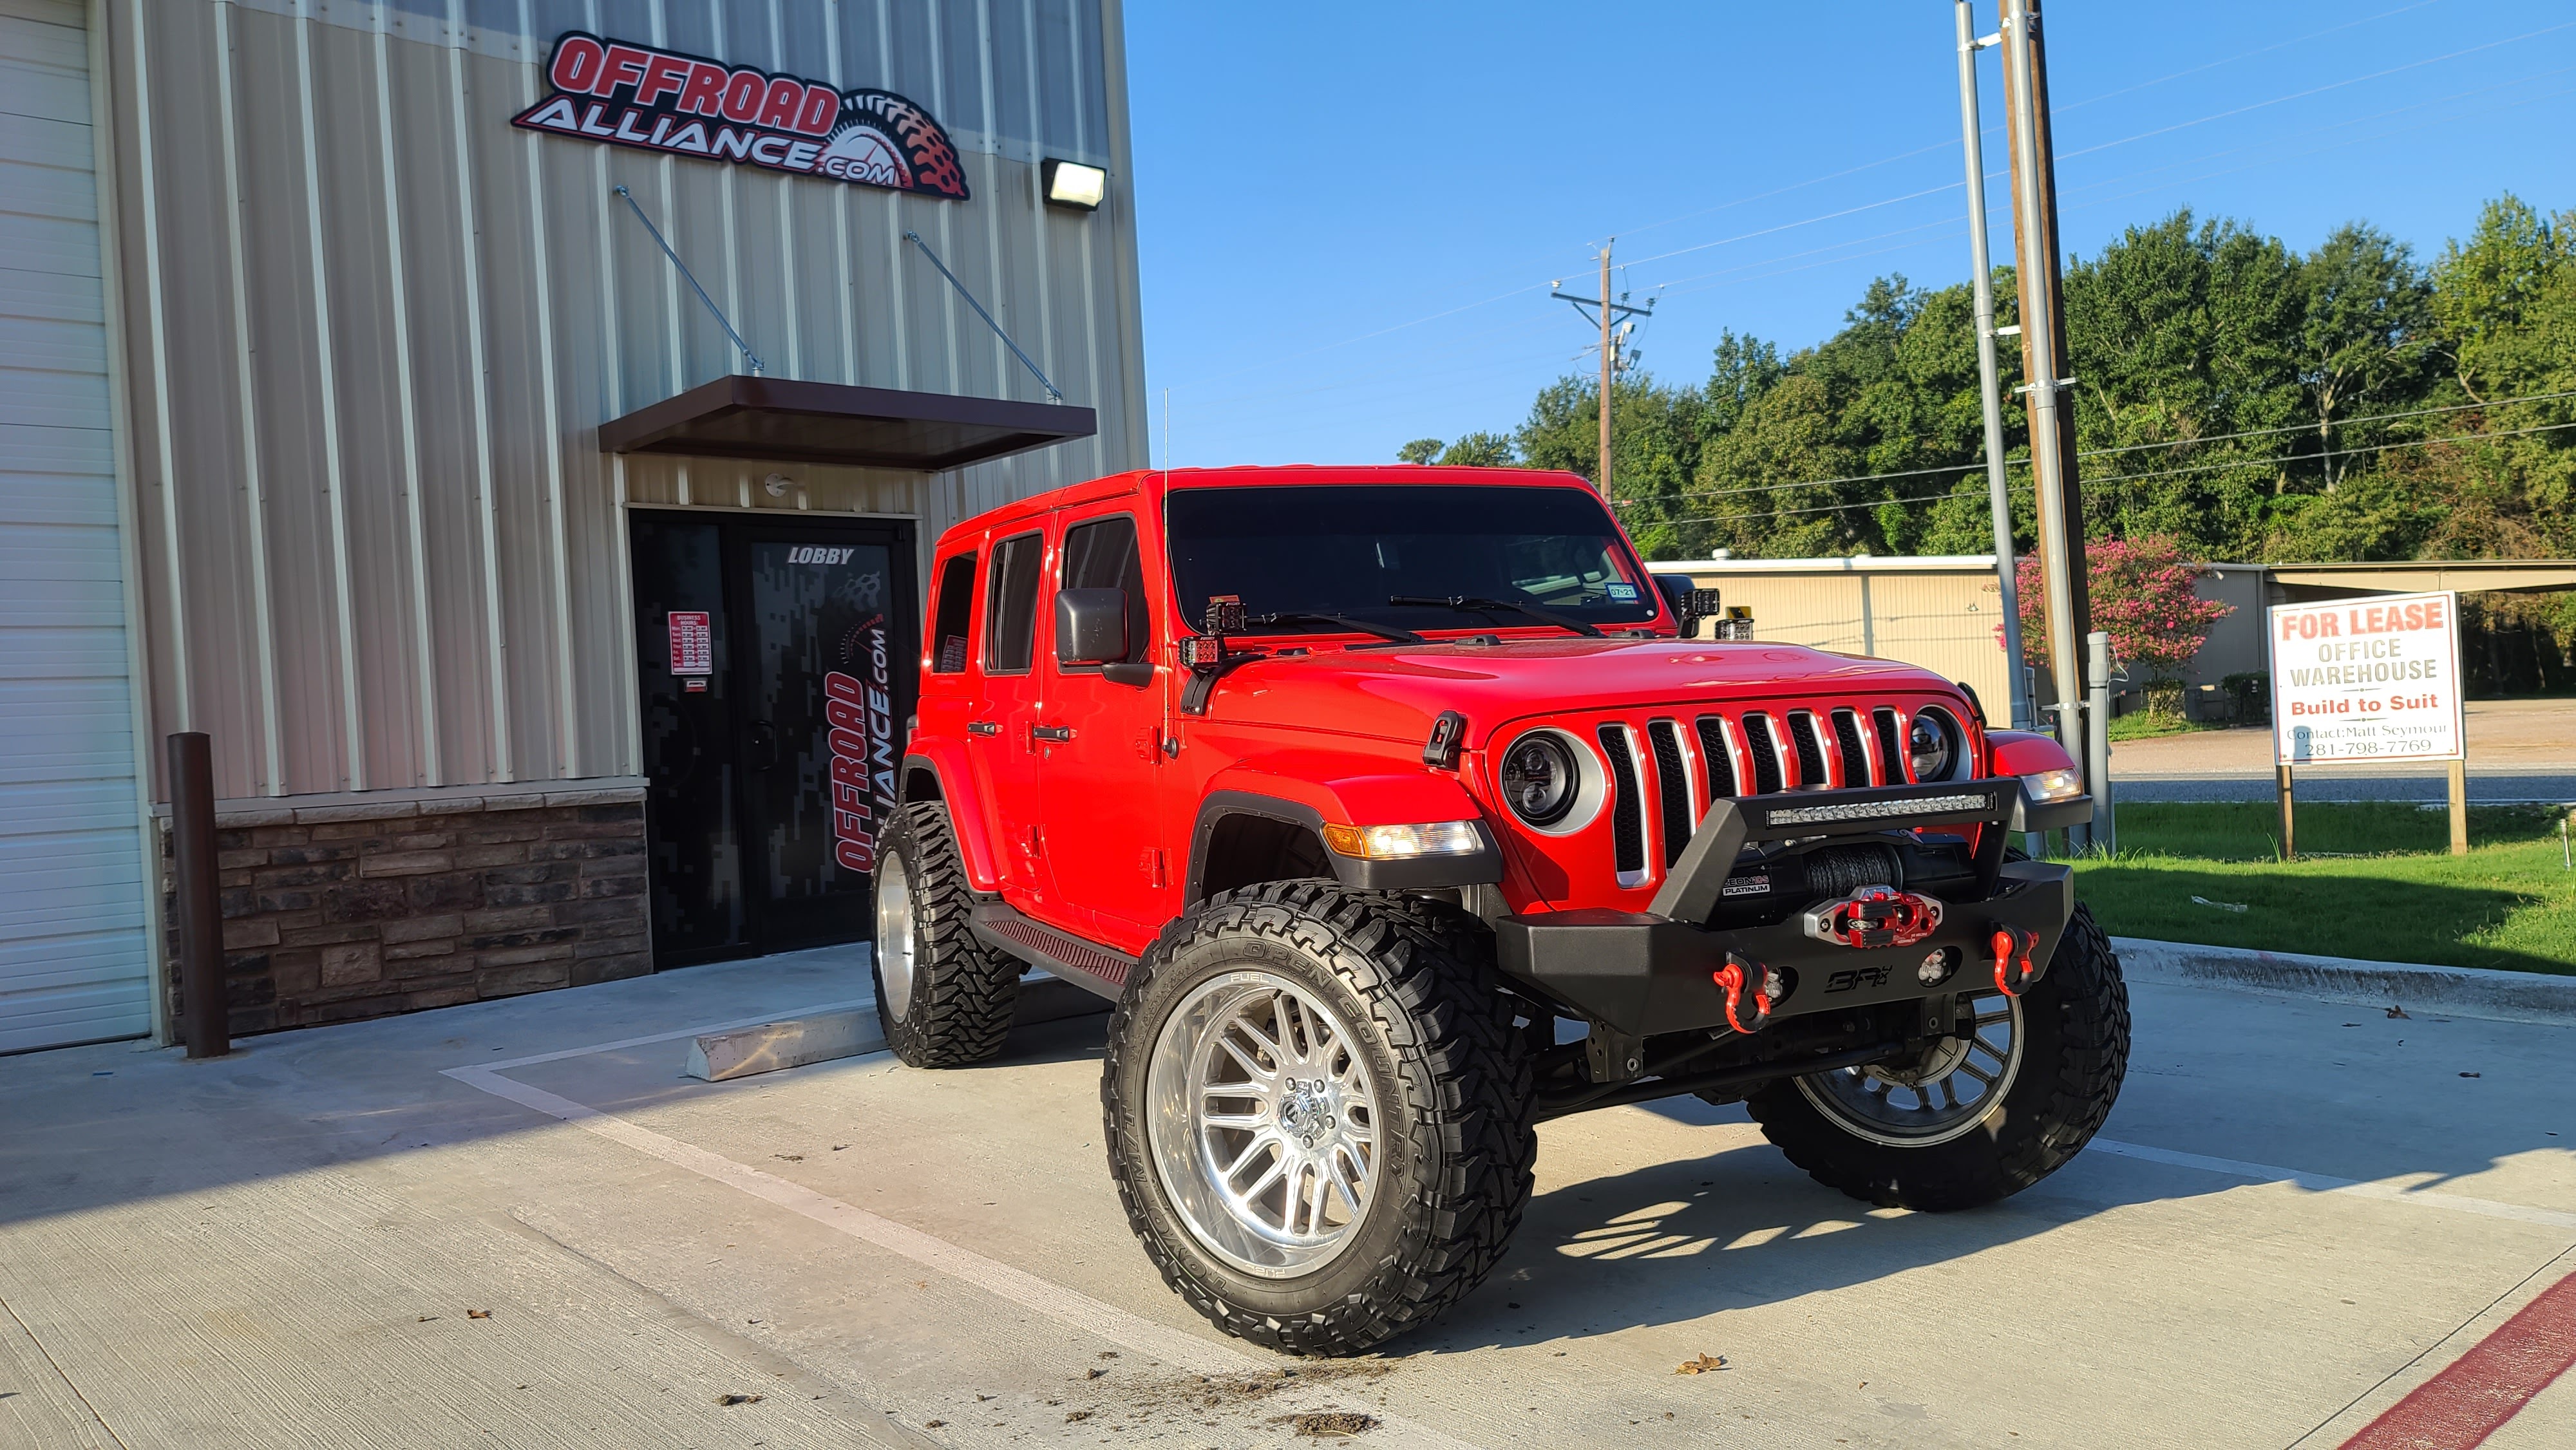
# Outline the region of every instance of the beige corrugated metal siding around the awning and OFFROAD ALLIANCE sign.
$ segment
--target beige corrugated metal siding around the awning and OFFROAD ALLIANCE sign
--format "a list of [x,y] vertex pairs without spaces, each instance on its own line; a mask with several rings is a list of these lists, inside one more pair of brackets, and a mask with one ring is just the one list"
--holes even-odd
[[[1144,464],[1110,0],[106,13],[152,729],[214,734],[227,798],[634,773],[629,502],[927,538]],[[567,28],[912,95],[974,201],[510,129]],[[1113,165],[1108,206],[1041,206],[1041,155]],[[611,185],[773,376],[1041,402],[922,232],[1100,435],[940,479],[600,456],[600,422],[737,363]]]

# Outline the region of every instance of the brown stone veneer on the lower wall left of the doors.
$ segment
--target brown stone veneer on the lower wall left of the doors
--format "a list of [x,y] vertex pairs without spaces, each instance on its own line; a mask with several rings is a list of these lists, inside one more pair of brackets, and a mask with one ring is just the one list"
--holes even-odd
[[[639,788],[278,801],[222,809],[216,832],[234,1035],[652,971]],[[165,819],[175,963],[170,868]]]

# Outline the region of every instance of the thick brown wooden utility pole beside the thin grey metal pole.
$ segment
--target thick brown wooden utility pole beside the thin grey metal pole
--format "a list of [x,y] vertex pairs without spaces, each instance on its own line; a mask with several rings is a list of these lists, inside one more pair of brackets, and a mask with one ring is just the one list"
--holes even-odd
[[[2040,569],[2048,603],[2048,672],[2058,693],[2058,744],[2102,801],[2107,760],[2092,760],[2084,731],[2084,636],[2092,600],[2084,574],[2084,492],[2076,479],[2074,407],[2066,376],[2066,304],[2058,294],[2058,188],[2048,142],[2048,62],[2040,0],[1999,0],[2004,10],[2004,113],[2012,137],[2012,242],[2022,294],[2022,397],[2030,404],[2030,471],[2038,487]],[[2069,832],[2076,837],[2079,832]],[[2089,832],[2081,832],[2089,837]],[[2079,842],[2069,842],[2079,845]]]

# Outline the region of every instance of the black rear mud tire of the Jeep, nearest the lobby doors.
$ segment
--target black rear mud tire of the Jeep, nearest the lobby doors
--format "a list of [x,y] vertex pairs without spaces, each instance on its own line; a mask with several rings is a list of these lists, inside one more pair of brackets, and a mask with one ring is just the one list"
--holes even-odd
[[[886,994],[884,945],[868,953],[876,1022],[886,1046],[907,1066],[966,1066],[997,1056],[1020,1004],[1023,963],[979,943],[966,925],[974,894],[948,829],[948,809],[940,801],[899,806],[878,858],[896,871],[878,865],[876,891],[904,881],[912,896],[912,989],[904,992],[902,1015]],[[886,914],[876,912],[873,919],[884,922]]]

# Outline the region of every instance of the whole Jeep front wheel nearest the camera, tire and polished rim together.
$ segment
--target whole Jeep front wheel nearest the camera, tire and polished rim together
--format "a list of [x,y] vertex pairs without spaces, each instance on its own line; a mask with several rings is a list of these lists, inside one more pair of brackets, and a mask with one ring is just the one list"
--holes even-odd
[[1520,1226],[1528,1048],[1481,937],[1440,912],[1327,881],[1229,891],[1118,1004],[1110,1177],[1226,1334],[1355,1355],[1440,1316]]

